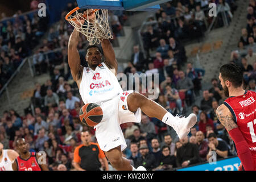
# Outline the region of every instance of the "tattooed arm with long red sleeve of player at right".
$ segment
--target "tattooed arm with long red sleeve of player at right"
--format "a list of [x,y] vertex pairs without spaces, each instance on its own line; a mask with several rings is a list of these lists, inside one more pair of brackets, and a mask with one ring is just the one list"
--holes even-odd
[[241,130],[234,122],[233,116],[230,113],[228,107],[226,107],[224,104],[220,105],[216,110],[216,115],[218,120],[226,128],[230,137],[236,144],[237,155],[241,160],[243,168],[245,168],[246,171],[253,171],[254,164],[249,146],[243,137]]

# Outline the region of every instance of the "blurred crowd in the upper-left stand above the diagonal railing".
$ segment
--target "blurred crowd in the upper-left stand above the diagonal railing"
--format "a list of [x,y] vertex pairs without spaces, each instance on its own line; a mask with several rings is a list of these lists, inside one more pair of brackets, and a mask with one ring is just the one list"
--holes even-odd
[[22,60],[32,54],[40,38],[47,31],[47,17],[37,12],[22,13],[20,10],[7,18],[2,13],[0,21],[0,89],[13,75]]

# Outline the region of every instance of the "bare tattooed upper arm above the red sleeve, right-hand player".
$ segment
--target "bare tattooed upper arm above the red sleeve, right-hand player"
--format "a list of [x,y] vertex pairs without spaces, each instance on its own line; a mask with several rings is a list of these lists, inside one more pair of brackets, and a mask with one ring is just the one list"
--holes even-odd
[[216,110],[216,115],[221,124],[226,128],[227,131],[230,131],[237,127],[237,124],[234,122],[234,119],[224,104],[218,106]]

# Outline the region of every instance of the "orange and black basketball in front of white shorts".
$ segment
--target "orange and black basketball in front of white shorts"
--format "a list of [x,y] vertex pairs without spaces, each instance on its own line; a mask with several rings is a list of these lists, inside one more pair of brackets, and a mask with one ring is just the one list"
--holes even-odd
[[101,107],[94,103],[88,103],[82,106],[79,114],[81,122],[90,127],[100,123],[103,117]]

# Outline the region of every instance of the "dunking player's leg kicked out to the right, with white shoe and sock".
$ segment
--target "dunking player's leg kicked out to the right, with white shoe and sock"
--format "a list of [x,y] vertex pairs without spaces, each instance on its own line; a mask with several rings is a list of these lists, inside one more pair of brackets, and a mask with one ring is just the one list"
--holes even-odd
[[191,127],[193,127],[197,121],[195,114],[190,114],[187,118],[174,117],[162,106],[137,92],[129,94],[127,97],[127,105],[128,109],[132,112],[140,107],[143,113],[148,117],[157,118],[173,127],[179,138],[187,136]]

